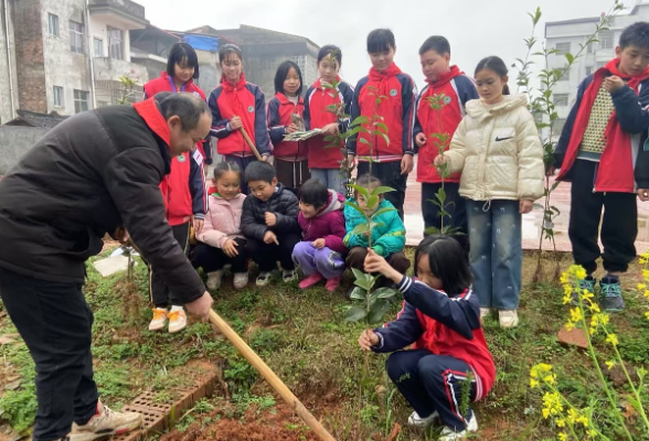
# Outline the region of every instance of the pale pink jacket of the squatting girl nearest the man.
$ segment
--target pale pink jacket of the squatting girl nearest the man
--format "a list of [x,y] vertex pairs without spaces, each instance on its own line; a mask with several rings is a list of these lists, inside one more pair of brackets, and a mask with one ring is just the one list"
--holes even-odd
[[227,239],[243,238],[241,234],[241,213],[245,195],[238,194],[230,201],[225,201],[211,187],[210,211],[205,215],[203,230],[196,239],[214,248],[223,248]]

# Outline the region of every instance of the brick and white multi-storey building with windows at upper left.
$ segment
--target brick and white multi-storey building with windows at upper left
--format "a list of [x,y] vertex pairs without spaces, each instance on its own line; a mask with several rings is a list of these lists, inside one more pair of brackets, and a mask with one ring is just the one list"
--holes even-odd
[[141,96],[149,74],[131,62],[129,31],[149,25],[143,7],[130,0],[0,1],[0,121],[18,109],[73,115]]

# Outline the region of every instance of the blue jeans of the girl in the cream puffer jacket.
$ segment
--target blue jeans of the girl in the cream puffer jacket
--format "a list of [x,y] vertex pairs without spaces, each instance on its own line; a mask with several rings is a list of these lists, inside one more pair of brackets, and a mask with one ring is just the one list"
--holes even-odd
[[523,266],[519,201],[467,201],[469,261],[481,308],[515,310]]

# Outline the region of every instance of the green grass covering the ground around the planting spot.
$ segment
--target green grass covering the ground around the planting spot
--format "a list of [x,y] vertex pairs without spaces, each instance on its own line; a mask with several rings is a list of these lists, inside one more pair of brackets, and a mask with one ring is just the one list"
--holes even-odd
[[[568,256],[563,256],[562,267],[568,265]],[[491,394],[475,406],[480,422],[476,439],[553,439],[552,428],[541,416],[541,397],[528,387],[530,367],[539,362],[554,366],[560,388],[572,400],[585,406],[592,399],[602,399],[598,380],[584,352],[556,342],[567,306],[562,304],[562,291],[555,284],[530,284],[534,268],[533,256],[525,256],[521,325],[503,331],[496,318],[485,321],[498,376]],[[88,269],[85,292],[95,312],[95,379],[109,406],[119,409],[145,390],[156,391],[160,402],[168,401],[173,387],[189,381],[177,368],[200,358],[224,361],[224,377],[232,394],[228,406],[234,406],[224,407],[222,397],[200,401],[191,412],[177,416],[183,417],[178,428],[187,430],[192,423],[206,427],[215,418],[251,418],[248,409],[275,411],[279,398],[274,398],[256,370],[210,325],[194,323],[177,335],[146,331],[151,312],[143,308],[147,277],[142,265],[137,267],[136,295],[142,305],[139,313],[125,311],[125,303],[132,301],[125,302],[116,294],[119,277],[102,279]],[[624,279],[625,287],[635,287],[639,278],[640,270],[635,265]],[[215,310],[338,440],[364,441],[376,433],[385,439],[394,422],[406,421],[412,409],[386,378],[385,355],[372,356],[368,378],[362,378],[363,356],[357,338],[363,326],[343,322],[350,303],[341,291],[329,293],[323,287],[301,291],[297,283],[284,286],[279,281],[259,289],[252,280],[242,291],[234,291],[231,280],[226,280],[222,290],[214,293]],[[631,365],[647,365],[647,303],[634,292],[627,293],[626,299],[627,311],[613,319],[620,348]],[[395,316],[400,308],[401,301],[394,302],[389,316]],[[8,318],[0,319],[0,335],[12,332],[15,330]],[[17,432],[24,432],[35,412],[33,364],[23,344],[0,346],[0,384],[7,378],[21,379],[15,390],[0,390],[0,426],[6,421]],[[215,417],[214,412],[223,408],[230,410]],[[610,421],[605,413],[600,424],[606,427]],[[286,424],[292,427],[290,422]],[[397,439],[435,439],[435,432],[404,428]]]

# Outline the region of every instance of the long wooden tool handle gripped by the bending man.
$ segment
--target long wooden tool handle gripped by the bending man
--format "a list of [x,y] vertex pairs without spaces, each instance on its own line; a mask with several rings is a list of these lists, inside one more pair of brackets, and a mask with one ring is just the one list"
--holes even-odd
[[296,411],[298,417],[305,421],[305,423],[311,428],[311,430],[322,440],[322,441],[336,441],[336,439],[320,424],[320,421],[316,419],[307,410],[307,408],[300,402],[300,400],[292,395],[290,389],[286,387],[284,381],[279,379],[277,375],[264,361],[237,335],[236,332],[230,327],[227,323],[219,314],[214,311],[210,311],[210,322],[216,329],[230,340],[230,342],[236,347],[236,349],[243,355],[254,367],[262,374],[262,376],[273,386],[273,388],[284,398],[284,400],[290,406],[292,410]]

